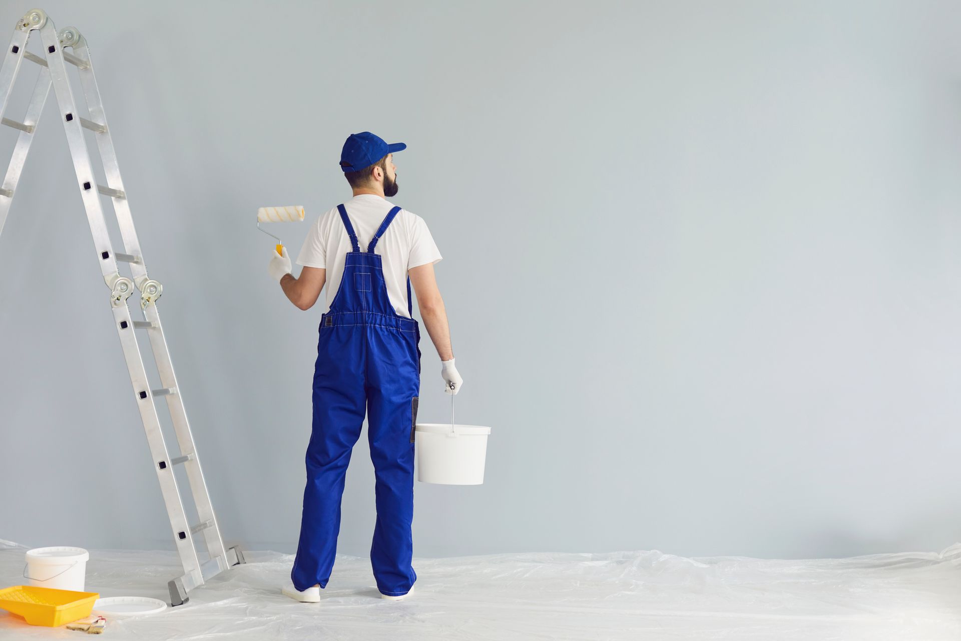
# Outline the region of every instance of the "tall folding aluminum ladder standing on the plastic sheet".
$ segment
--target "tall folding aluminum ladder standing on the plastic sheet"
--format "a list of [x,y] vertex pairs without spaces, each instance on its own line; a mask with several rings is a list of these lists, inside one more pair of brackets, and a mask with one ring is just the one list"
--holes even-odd
[[[43,44],[44,56],[40,57],[27,51],[27,40],[34,32],[39,33]],[[72,49],[72,53],[65,51]],[[41,68],[37,85],[34,88],[30,106],[26,116],[21,121],[3,117],[16,80],[20,64],[23,61],[33,62]],[[80,83],[86,101],[89,119],[81,117],[74,102],[73,92],[67,78],[66,64],[73,64],[80,74]],[[134,229],[134,219],[131,217],[127,192],[120,179],[120,169],[116,154],[113,150],[111,130],[107,125],[107,117],[100,100],[100,90],[93,75],[93,64],[86,39],[73,27],[65,27],[60,32],[54,26],[47,14],[39,9],[27,12],[17,20],[13,30],[13,37],[0,67],[0,122],[7,127],[19,130],[13,155],[4,178],[0,185],[0,233],[3,232],[7,213],[16,192],[16,185],[20,180],[24,161],[30,151],[30,144],[37,130],[37,122],[43,105],[46,102],[50,86],[53,85],[57,96],[57,103],[61,113],[63,129],[66,132],[70,155],[73,157],[74,169],[77,173],[77,183],[86,209],[86,218],[93,235],[93,245],[96,250],[97,261],[104,281],[111,290],[110,303],[113,313],[113,325],[120,337],[127,369],[130,371],[130,381],[134,386],[134,398],[143,421],[143,429],[147,434],[150,446],[150,456],[154,460],[154,471],[160,480],[160,491],[163,503],[170,517],[170,527],[174,534],[174,543],[184,565],[184,576],[169,582],[170,601],[173,605],[184,604],[187,592],[202,585],[205,580],[218,575],[234,565],[244,562],[243,553],[238,547],[225,548],[217,526],[217,519],[210,505],[210,496],[204,473],[201,471],[200,459],[193,443],[193,435],[187,423],[184,401],[181,398],[180,387],[174,376],[174,368],[170,362],[166,339],[160,325],[160,315],[157,311],[157,299],[162,293],[162,286],[147,276],[147,267],[140,243]],[[97,185],[94,178],[90,155],[86,146],[84,130],[94,133],[100,159],[103,162],[107,185]],[[120,234],[123,238],[124,252],[114,253],[111,239],[104,218],[101,205],[101,195],[111,198],[113,210],[116,214]],[[130,265],[132,278],[121,276],[117,270],[118,262]],[[134,293],[134,288],[140,292],[140,308],[145,320],[131,318],[127,299]],[[160,389],[151,389],[144,369],[143,359],[136,339],[135,330],[145,330],[154,354],[154,360],[160,372]],[[170,411],[177,443],[180,446],[180,456],[170,456],[160,431],[160,417],[155,399],[163,397]],[[174,467],[183,465],[186,473],[193,502],[196,507],[199,523],[191,525],[181,500],[177,480],[174,477]],[[194,545],[194,535],[200,534],[207,545],[209,559],[201,561]]]

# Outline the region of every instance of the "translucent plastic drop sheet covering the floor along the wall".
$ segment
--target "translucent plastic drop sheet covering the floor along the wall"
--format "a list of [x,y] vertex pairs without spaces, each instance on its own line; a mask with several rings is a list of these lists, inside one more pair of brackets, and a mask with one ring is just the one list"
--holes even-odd
[[[69,543],[69,542],[67,542]],[[0,539],[0,585],[27,548]],[[403,602],[383,601],[367,558],[338,555],[319,604],[280,592],[292,555],[247,552],[187,604],[112,619],[103,639],[911,639],[961,638],[961,543],[940,554],[685,558],[650,552],[417,558]],[[173,552],[90,551],[86,589],[168,600]],[[73,639],[0,611],[0,639]]]

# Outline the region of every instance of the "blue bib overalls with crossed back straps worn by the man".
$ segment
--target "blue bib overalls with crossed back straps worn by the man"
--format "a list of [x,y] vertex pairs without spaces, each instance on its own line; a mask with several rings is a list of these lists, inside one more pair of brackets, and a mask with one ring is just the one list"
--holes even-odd
[[[313,425],[307,450],[307,488],[300,543],[290,579],[304,590],[327,586],[333,569],[340,499],[351,450],[364,412],[377,477],[377,525],[370,561],[382,594],[407,594],[417,579],[410,566],[413,540],[414,426],[420,393],[420,329],[387,297],[381,257],[374,247],[401,210],[383,219],[367,252],[343,205],[337,206],[354,251],[331,309],[321,316],[313,375]],[[407,277],[407,310],[410,278]]]

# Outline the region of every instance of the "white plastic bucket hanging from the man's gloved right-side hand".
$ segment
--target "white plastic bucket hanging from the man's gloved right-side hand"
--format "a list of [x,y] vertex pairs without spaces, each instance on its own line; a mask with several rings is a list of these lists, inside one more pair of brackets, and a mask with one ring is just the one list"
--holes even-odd
[[418,423],[417,480],[445,485],[480,485],[490,428]]

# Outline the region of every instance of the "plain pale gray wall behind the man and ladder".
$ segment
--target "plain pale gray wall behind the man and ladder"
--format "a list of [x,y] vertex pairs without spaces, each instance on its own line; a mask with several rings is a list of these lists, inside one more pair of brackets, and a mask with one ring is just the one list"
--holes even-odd
[[[91,42],[229,539],[296,545],[319,319],[255,210],[348,198],[371,130],[445,256],[457,420],[493,428],[482,486],[417,484],[416,555],[958,540],[957,4],[42,6]],[[172,549],[75,185],[51,100],[0,238],[0,537]],[[348,477],[364,555],[365,436]]]

